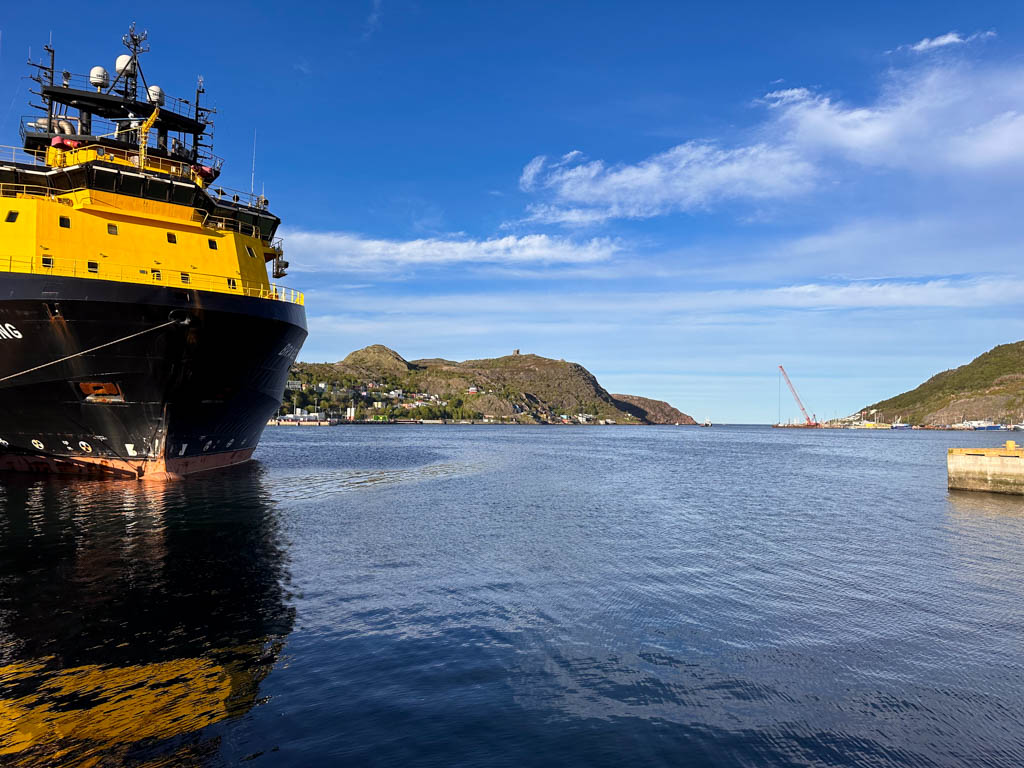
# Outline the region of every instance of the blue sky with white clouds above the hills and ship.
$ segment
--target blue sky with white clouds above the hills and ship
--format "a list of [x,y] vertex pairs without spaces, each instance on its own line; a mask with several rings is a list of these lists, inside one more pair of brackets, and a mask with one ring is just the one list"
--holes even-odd
[[[5,9],[3,143],[30,46],[112,67],[132,17],[90,8]],[[151,82],[206,78],[224,183],[256,131],[301,359],[520,348],[770,422],[779,362],[830,417],[1024,338],[1016,4],[137,10]]]

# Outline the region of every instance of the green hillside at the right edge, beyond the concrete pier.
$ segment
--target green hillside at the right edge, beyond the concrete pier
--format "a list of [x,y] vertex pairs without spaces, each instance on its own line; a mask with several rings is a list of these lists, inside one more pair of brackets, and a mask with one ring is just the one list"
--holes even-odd
[[1019,423],[1024,411],[1024,341],[1000,344],[971,362],[936,374],[920,387],[868,406],[877,421],[944,425],[991,419]]

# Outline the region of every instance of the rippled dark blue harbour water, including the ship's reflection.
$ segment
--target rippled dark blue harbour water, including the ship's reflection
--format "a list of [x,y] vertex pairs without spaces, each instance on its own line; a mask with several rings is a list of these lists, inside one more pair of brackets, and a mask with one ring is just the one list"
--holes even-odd
[[0,765],[1019,766],[984,433],[270,428],[0,478]]

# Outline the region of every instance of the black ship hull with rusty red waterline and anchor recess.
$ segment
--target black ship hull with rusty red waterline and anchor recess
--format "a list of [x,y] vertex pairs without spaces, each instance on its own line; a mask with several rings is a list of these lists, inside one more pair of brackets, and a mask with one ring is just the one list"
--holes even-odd
[[306,337],[299,304],[0,276],[0,469],[166,479],[248,460]]

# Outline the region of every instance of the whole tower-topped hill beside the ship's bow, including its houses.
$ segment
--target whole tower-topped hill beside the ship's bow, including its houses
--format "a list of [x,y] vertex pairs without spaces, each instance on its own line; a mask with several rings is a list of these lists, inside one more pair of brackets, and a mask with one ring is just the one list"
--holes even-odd
[[[286,392],[299,407],[382,402],[389,417],[417,410],[419,418],[482,418],[546,423],[575,420],[581,414],[617,424],[692,424],[667,402],[633,395],[611,395],[587,369],[575,362],[510,354],[457,362],[441,357],[407,360],[393,349],[375,344],[357,349],[335,364],[297,362],[292,379],[323,394]],[[401,391],[400,395],[392,392]],[[362,391],[367,394],[362,395]],[[302,400],[302,402],[299,402]],[[356,401],[358,400],[358,401]]]

